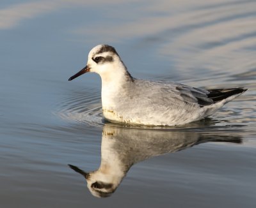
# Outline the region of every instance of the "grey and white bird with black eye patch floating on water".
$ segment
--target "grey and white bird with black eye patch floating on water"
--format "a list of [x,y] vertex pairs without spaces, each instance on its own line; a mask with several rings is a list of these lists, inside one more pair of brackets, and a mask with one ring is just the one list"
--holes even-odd
[[247,89],[202,89],[177,82],[132,77],[116,49],[100,44],[88,54],[86,66],[70,77],[100,75],[104,119],[110,123],[179,126],[214,114]]

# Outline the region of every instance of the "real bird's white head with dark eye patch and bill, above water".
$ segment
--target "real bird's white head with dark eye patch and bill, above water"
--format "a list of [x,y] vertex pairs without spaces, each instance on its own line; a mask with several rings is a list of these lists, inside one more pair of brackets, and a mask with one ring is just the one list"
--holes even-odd
[[109,80],[111,77],[116,78],[118,75],[131,77],[115,48],[110,45],[97,45],[92,48],[86,66],[68,80],[70,81],[89,71],[98,73],[102,80]]

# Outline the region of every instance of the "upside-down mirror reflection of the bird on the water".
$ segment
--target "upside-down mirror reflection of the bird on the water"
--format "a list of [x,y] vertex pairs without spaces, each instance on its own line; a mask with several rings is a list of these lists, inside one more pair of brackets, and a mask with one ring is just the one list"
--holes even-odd
[[188,130],[132,129],[105,124],[99,169],[85,172],[74,165],[69,166],[84,176],[93,196],[109,197],[135,163],[204,142],[241,143],[242,140],[235,135],[223,135],[223,132],[212,135]]

